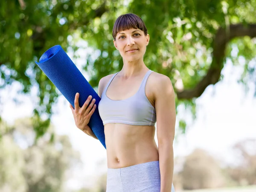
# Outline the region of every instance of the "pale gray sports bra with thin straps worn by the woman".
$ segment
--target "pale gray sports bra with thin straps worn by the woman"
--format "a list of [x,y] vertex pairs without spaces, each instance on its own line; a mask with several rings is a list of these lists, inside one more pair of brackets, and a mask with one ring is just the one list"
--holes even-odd
[[103,125],[107,123],[123,123],[128,125],[155,125],[156,111],[145,94],[145,85],[151,70],[145,74],[139,90],[131,97],[123,100],[112,100],[106,95],[115,73],[102,92],[99,102],[99,115]]

